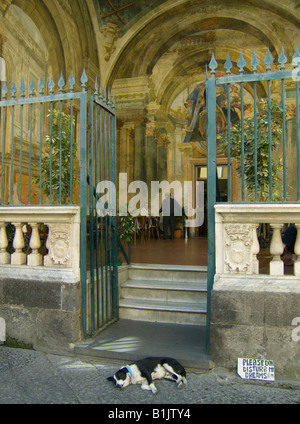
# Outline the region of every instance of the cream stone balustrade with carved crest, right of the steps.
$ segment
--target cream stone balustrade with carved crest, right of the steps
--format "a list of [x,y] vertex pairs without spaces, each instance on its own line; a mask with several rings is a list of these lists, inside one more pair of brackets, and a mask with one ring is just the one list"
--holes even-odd
[[[270,224],[269,273],[284,275],[281,229],[285,223],[294,223],[300,229],[300,204],[216,204],[216,274],[259,273],[257,255],[260,245],[257,236],[259,224]],[[297,260],[294,275],[300,276],[300,231],[295,243]]]

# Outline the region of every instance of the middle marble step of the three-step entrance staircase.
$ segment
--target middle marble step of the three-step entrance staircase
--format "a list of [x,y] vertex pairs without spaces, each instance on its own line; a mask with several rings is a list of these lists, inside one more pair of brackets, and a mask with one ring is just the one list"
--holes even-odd
[[207,282],[168,280],[127,280],[120,288],[121,298],[163,301],[206,302]]

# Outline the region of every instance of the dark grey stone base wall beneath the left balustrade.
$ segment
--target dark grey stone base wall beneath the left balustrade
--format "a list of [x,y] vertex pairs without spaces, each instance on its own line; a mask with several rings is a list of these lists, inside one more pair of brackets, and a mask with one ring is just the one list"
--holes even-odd
[[0,279],[7,337],[36,349],[68,351],[81,337],[80,282]]

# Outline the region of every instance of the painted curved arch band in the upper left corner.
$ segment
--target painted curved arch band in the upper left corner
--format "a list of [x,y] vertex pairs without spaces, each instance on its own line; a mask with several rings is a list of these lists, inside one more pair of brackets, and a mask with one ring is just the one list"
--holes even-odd
[[68,78],[73,70],[78,79],[82,69],[95,76],[98,55],[95,35],[86,2],[58,2],[57,0],[13,0],[34,22],[48,50],[49,71],[54,78],[60,72]]

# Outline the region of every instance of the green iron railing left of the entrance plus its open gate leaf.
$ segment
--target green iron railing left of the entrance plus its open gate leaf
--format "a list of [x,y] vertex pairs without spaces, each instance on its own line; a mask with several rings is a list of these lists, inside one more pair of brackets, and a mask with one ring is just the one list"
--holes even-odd
[[115,109],[87,82],[83,71],[81,91],[72,72],[68,85],[61,75],[57,87],[52,76],[0,87],[0,206],[80,206],[84,338],[118,318],[116,217],[96,211],[97,184],[115,182]]

